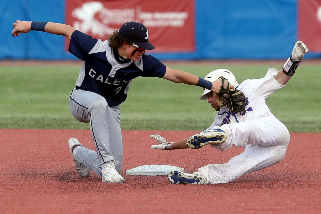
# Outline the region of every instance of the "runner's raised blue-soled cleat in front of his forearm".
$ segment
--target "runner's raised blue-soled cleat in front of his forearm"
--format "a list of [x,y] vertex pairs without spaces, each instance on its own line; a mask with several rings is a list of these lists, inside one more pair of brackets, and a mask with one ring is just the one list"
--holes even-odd
[[199,149],[207,144],[221,145],[226,141],[226,133],[221,129],[209,129],[204,133],[195,134],[188,138],[186,144],[188,148]]

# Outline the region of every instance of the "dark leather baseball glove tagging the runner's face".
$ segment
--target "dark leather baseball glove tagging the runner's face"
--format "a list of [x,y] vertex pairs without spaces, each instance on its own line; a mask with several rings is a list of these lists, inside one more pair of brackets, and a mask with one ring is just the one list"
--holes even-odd
[[[222,79],[221,88],[218,95],[223,98],[220,99],[218,105],[227,107],[231,112],[243,112],[245,111],[245,95],[242,91],[236,89],[230,89],[230,83],[224,77]],[[218,100],[218,98],[216,98]]]

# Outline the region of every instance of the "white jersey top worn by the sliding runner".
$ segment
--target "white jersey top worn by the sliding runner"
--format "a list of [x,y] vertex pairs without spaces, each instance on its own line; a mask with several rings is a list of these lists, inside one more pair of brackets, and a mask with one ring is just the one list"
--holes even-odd
[[275,118],[267,107],[265,99],[274,91],[285,86],[275,80],[278,72],[275,68],[269,68],[265,77],[241,82],[237,89],[242,91],[246,97],[246,112],[231,113],[230,109],[221,107],[208,129],[223,124],[248,122],[262,117]]

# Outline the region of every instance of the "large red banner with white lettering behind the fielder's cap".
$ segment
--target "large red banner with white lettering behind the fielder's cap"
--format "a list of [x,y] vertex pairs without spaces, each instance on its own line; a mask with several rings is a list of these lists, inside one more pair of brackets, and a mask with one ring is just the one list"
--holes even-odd
[[194,0],[66,0],[65,17],[66,24],[102,41],[123,23],[138,21],[155,52],[195,49]]

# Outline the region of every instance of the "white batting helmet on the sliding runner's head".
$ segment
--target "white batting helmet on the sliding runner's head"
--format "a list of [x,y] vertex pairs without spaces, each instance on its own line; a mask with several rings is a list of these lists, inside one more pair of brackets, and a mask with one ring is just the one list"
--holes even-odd
[[[210,73],[208,73],[204,79],[208,80],[210,82],[213,82],[215,80],[217,80],[220,77],[224,77],[225,79],[227,79],[227,81],[233,85],[235,88],[239,86],[239,83],[236,81],[236,78],[234,76],[234,74],[225,69],[225,68],[221,68],[221,69],[216,69],[214,71],[211,71]],[[207,94],[210,92],[211,90],[208,89],[204,89],[204,93],[201,96],[201,100],[205,100],[207,99]]]

